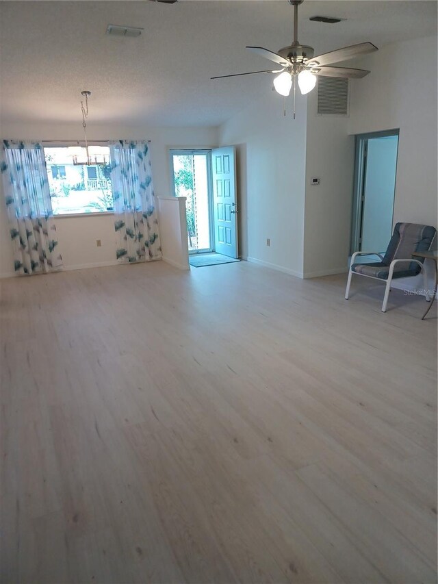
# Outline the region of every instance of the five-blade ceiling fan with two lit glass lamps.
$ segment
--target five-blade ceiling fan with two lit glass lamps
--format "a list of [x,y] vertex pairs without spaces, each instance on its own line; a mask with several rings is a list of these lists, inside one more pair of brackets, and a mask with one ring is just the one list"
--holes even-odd
[[343,77],[347,79],[361,79],[368,75],[370,71],[365,69],[353,69],[347,67],[333,67],[332,63],[339,63],[366,55],[377,51],[377,47],[372,42],[361,42],[359,45],[351,45],[324,53],[324,55],[313,56],[313,47],[300,45],[298,42],[298,6],[304,0],[287,0],[294,6],[294,42],[288,47],[279,49],[277,53],[264,49],[263,47],[246,47],[253,53],[273,61],[281,68],[268,69],[263,71],[250,71],[249,73],[235,73],[234,75],[219,75],[211,79],[223,79],[224,77],[240,77],[241,75],[254,75],[255,73],[279,73],[274,77],[274,88],[276,92],[285,98],[289,95],[294,85],[294,117],[295,117],[295,90],[296,81],[300,92],[304,95],[309,93],[316,84],[316,75],[325,77]]

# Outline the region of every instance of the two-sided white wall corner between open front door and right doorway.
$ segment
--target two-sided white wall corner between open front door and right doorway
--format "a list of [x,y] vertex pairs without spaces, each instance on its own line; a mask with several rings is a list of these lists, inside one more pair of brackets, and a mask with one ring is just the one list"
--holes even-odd
[[293,120],[269,93],[220,127],[220,143],[237,144],[242,256],[299,277],[348,262],[354,138],[347,118],[317,116],[316,101],[299,96]]

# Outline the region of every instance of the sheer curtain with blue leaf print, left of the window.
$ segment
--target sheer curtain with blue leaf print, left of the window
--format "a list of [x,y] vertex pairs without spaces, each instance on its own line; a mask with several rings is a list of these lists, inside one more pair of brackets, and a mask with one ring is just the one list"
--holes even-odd
[[38,142],[3,140],[0,151],[3,191],[18,274],[59,270],[44,150]]

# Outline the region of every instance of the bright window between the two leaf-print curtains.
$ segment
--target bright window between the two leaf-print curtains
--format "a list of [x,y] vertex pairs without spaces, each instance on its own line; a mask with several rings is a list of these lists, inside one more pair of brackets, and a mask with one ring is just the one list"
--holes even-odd
[[110,164],[75,165],[68,147],[44,148],[44,156],[54,215],[113,210]]

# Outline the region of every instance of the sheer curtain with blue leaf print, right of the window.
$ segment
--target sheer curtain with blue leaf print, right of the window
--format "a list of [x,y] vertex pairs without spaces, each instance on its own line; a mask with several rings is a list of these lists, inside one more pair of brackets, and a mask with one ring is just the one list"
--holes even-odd
[[110,144],[116,257],[149,262],[162,257],[147,142]]

